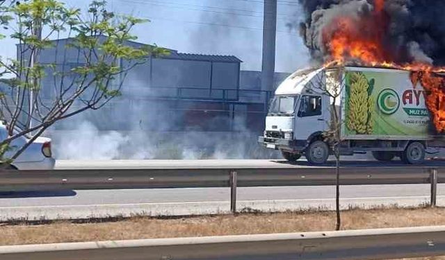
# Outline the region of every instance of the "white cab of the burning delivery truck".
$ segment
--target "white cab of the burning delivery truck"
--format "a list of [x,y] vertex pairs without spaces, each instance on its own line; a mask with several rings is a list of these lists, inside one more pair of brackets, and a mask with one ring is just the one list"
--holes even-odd
[[275,91],[259,142],[280,150],[289,161],[305,155],[311,163],[325,162],[330,153],[323,142],[330,121],[330,96],[324,94],[323,86],[324,69],[296,71],[286,78]]

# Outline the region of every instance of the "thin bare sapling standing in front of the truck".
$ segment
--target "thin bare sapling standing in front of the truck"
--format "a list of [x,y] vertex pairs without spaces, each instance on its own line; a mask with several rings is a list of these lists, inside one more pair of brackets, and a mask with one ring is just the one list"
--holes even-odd
[[340,216],[340,145],[343,141],[341,128],[343,121],[340,116],[341,94],[345,87],[344,67],[325,67],[323,73],[318,73],[314,80],[309,82],[309,90],[330,98],[330,121],[327,122],[327,130],[323,132],[324,141],[332,150],[335,157],[335,229],[341,228]]

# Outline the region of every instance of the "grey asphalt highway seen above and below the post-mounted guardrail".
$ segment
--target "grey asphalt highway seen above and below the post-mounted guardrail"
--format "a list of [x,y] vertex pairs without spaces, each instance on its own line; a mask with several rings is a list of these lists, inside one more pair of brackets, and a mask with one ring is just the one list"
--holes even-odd
[[[398,162],[346,162],[349,166],[404,166]],[[428,166],[442,166],[432,162]],[[305,162],[291,165],[267,160],[209,161],[104,161],[57,162],[56,168],[253,168],[310,167]],[[329,165],[328,165],[329,166]],[[381,205],[416,206],[429,200],[429,185],[364,185],[341,187],[341,204],[348,207]],[[238,209],[285,211],[298,209],[333,209],[334,187],[252,187],[238,188]],[[229,188],[145,189],[16,192],[0,194],[0,220],[103,218],[107,216],[172,216],[218,214],[229,212]],[[445,205],[445,184],[438,185],[438,205]]]

